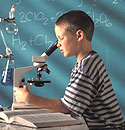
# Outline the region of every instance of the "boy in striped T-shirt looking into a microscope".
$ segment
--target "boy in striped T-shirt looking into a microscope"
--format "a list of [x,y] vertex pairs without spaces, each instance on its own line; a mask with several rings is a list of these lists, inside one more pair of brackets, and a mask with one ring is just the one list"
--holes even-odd
[[64,97],[39,97],[24,85],[23,88],[14,87],[17,102],[84,117],[90,130],[123,129],[120,107],[106,68],[91,47],[93,32],[94,23],[83,11],[62,15],[55,24],[57,46],[65,57],[77,59]]

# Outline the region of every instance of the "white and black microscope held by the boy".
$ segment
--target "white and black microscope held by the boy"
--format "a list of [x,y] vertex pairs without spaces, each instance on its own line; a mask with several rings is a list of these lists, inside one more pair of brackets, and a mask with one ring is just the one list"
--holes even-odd
[[[14,82],[13,87],[23,87],[25,79],[22,78],[23,74],[32,71],[36,68],[37,70],[37,80],[28,80],[27,86],[34,85],[36,87],[44,86],[44,83],[50,83],[50,81],[42,80],[42,71],[46,73],[50,73],[50,70],[47,68],[46,60],[48,56],[50,56],[57,49],[58,41],[56,41],[46,52],[44,52],[41,56],[32,56],[33,66],[22,67],[14,69]],[[14,93],[14,92],[13,92]],[[13,104],[12,110],[21,109],[21,108],[34,108],[32,105],[17,103],[13,94]]]

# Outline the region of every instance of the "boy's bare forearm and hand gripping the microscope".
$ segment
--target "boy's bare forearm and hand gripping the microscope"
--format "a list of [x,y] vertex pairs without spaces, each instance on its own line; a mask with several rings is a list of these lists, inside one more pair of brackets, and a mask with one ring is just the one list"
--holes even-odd
[[50,99],[34,95],[26,85],[23,88],[14,87],[14,96],[17,102],[31,104],[37,108],[48,109],[50,112],[70,113],[60,99]]

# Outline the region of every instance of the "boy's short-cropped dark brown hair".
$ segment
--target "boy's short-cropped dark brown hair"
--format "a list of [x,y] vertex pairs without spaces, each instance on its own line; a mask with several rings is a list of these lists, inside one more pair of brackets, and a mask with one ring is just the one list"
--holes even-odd
[[94,32],[94,22],[93,20],[81,10],[73,10],[67,12],[60,16],[55,25],[68,25],[66,31],[75,34],[79,29],[81,29],[88,41],[92,40]]

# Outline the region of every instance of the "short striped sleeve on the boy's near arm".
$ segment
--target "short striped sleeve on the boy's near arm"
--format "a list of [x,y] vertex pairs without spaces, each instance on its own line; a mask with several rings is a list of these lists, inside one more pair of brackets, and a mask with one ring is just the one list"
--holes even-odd
[[93,81],[83,73],[77,72],[71,76],[61,101],[70,111],[81,116],[91,104],[95,94]]

